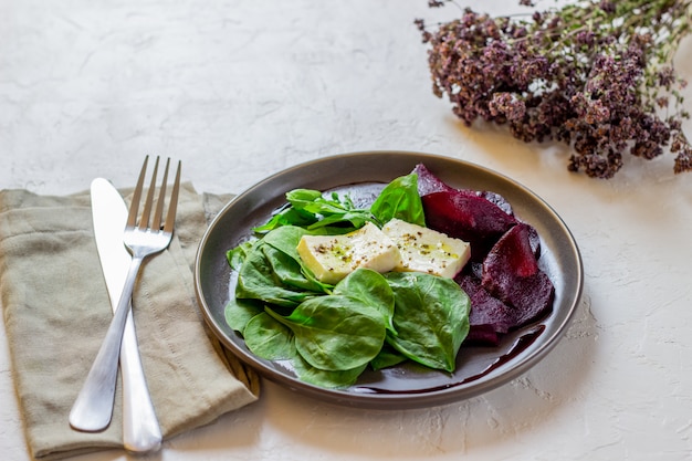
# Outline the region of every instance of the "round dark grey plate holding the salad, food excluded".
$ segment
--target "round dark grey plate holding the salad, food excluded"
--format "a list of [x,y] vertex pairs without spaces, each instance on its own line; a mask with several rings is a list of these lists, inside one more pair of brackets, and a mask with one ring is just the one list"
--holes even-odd
[[[380,371],[366,370],[347,389],[324,389],[298,380],[291,367],[254,356],[242,336],[224,319],[233,295],[226,252],[247,240],[251,229],[264,223],[285,203],[285,192],[386,184],[409,174],[422,163],[443,181],[458,188],[497,192],[515,214],[538,231],[541,268],[555,285],[552,313],[503,337],[496,347],[462,345],[453,374],[403,364]],[[458,159],[408,151],[342,154],[275,174],[230,201],[206,231],[195,264],[195,289],[206,322],[240,360],[261,376],[291,390],[337,405],[374,409],[421,408],[478,396],[518,377],[541,360],[558,342],[581,295],[584,270],[577,244],[559,216],[538,196],[514,180]]]

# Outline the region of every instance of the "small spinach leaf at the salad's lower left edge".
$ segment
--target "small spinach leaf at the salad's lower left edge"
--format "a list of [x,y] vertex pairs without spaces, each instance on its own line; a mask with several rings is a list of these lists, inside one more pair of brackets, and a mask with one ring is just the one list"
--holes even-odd
[[245,345],[252,354],[268,360],[282,360],[295,357],[293,333],[265,312],[254,317],[245,326]]

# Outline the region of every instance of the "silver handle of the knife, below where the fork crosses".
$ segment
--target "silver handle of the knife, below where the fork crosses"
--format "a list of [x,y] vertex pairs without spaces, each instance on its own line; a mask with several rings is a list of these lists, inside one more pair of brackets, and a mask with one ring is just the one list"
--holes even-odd
[[161,447],[161,429],[147,389],[137,347],[132,311],[125,323],[120,345],[123,377],[123,444],[127,451],[144,453]]

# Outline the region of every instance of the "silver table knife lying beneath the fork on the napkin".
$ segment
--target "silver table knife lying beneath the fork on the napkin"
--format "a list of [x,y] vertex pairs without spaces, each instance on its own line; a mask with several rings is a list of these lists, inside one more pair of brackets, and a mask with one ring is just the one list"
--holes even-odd
[[[127,207],[119,192],[103,178],[92,181],[91,197],[96,248],[111,297],[111,306],[115,310],[132,259],[123,243]],[[156,451],[161,446],[161,429],[144,376],[132,312],[127,318],[120,345],[120,375],[123,444],[132,452]]]

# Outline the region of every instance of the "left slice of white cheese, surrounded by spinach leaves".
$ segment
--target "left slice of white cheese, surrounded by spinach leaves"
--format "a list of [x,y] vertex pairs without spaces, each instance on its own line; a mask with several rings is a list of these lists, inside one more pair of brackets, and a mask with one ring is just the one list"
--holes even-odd
[[317,280],[331,284],[358,268],[389,272],[401,260],[397,245],[370,222],[344,235],[303,235],[297,252]]

